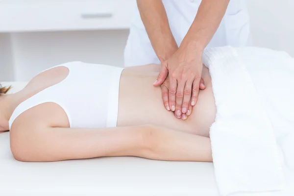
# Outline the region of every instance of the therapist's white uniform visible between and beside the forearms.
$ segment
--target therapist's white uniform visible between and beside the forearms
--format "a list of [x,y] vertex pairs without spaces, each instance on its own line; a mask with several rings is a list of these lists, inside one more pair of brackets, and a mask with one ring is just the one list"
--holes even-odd
[[[192,25],[201,0],[162,0],[172,34],[178,46]],[[207,48],[251,45],[249,16],[244,0],[230,0],[221,24]],[[138,7],[134,9],[130,34],[124,49],[124,65],[160,64],[141,20]]]

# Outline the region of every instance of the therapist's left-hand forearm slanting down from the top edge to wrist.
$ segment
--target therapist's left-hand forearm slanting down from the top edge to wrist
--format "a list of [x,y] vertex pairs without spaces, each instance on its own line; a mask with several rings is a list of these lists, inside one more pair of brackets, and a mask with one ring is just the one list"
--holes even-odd
[[163,62],[178,49],[172,35],[168,17],[161,0],[137,0],[141,19],[146,28],[151,45]]

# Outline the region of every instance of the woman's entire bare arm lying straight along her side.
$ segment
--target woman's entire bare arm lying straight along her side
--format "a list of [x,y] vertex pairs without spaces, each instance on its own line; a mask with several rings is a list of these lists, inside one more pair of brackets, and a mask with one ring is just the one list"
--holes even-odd
[[14,157],[51,162],[105,156],[212,161],[210,139],[154,125],[115,128],[31,128],[10,136]]

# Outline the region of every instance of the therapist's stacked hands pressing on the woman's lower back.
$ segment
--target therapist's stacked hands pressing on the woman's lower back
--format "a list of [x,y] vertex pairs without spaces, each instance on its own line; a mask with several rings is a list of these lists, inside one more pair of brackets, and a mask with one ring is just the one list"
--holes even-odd
[[169,86],[162,87],[162,97],[166,109],[174,111],[177,118],[187,114],[188,110],[188,114],[191,114],[190,105],[196,105],[199,90],[205,89],[201,78],[202,66],[202,52],[189,48],[178,49],[171,58],[162,63],[154,86],[164,84],[168,79]]

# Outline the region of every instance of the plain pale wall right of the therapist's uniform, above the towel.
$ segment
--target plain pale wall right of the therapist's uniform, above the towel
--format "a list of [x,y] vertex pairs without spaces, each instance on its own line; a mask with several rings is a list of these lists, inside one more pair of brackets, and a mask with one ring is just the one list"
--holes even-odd
[[294,57],[294,0],[246,0],[254,46]]

